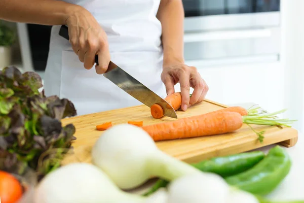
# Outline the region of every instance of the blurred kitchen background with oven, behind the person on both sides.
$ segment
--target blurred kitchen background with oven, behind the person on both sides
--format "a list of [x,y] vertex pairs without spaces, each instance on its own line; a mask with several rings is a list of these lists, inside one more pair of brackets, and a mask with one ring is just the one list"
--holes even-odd
[[[294,127],[302,130],[302,1],[182,2],[184,57],[209,85],[207,98],[227,105],[256,103],[269,111],[287,108],[284,116],[298,119]],[[35,71],[44,77],[51,26],[3,25],[16,31],[17,38],[1,47],[5,33],[0,28],[0,66],[13,64],[21,71]]]

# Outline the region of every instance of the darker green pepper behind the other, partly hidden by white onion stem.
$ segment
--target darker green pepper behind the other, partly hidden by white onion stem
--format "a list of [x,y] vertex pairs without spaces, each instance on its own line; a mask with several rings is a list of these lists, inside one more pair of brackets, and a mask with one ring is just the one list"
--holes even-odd
[[[214,157],[199,163],[192,163],[191,165],[198,168],[200,171],[211,172],[218,174],[221,177],[227,177],[248,170],[264,157],[265,154],[263,152],[254,151],[230,156]],[[167,180],[159,179],[155,185],[144,194],[144,196],[154,193],[161,187],[167,187],[168,183],[169,182]]]

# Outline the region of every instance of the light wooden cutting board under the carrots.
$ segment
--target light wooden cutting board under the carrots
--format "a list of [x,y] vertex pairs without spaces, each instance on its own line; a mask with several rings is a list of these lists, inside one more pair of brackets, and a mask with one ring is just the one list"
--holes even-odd
[[[211,111],[227,108],[211,100],[190,107],[186,112],[177,111],[178,118],[195,116]],[[74,124],[76,132],[73,141],[73,151],[68,153],[62,164],[72,162],[91,162],[91,148],[103,131],[97,131],[96,125],[111,121],[114,125],[128,121],[143,121],[144,125],[175,120],[169,117],[154,119],[150,109],[144,105],[130,108],[105,111],[100,113],[75,116],[62,120],[62,124]],[[180,139],[156,142],[160,150],[185,162],[198,162],[214,156],[224,156],[245,152],[263,146],[280,143],[292,147],[297,142],[297,130],[290,127],[252,125],[257,130],[265,130],[264,141],[260,143],[257,135],[246,124],[232,133],[201,138]],[[127,133],[127,132],[126,132]]]

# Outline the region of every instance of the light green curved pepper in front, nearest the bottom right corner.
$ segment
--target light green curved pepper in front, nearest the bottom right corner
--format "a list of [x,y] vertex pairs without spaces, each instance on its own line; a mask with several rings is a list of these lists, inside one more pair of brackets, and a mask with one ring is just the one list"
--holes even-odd
[[272,148],[268,155],[250,170],[225,178],[226,182],[253,194],[265,195],[273,191],[287,176],[291,159],[280,146]]

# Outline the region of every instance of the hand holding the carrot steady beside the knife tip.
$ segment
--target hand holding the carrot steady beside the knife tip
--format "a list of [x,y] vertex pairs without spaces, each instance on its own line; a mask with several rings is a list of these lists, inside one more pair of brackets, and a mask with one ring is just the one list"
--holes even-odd
[[[183,63],[166,64],[163,67],[161,79],[166,86],[167,95],[175,92],[174,85],[180,83],[181,109],[186,111],[191,105],[204,100],[209,87],[194,66]],[[194,88],[190,97],[190,87]]]

